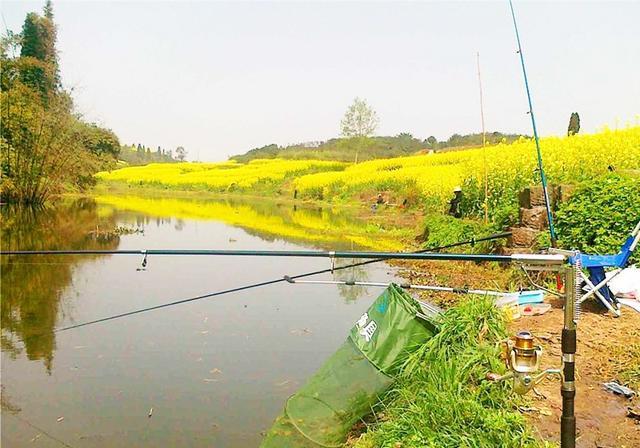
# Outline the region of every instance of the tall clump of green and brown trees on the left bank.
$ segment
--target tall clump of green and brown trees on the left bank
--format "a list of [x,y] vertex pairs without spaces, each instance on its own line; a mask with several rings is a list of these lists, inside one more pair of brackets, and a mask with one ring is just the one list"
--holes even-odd
[[118,137],[88,123],[62,87],[51,1],[27,14],[20,33],[1,39],[0,194],[5,202],[42,203],[94,183],[115,165]]

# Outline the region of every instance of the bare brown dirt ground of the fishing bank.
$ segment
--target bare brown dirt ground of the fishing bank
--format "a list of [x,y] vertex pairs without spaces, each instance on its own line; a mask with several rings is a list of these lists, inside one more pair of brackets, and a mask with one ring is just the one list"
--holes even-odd
[[[399,262],[401,275],[416,284],[461,286],[517,291],[531,287],[513,269],[472,263]],[[432,303],[446,308],[469,296],[426,293]],[[560,366],[562,301],[547,295],[551,310],[542,316],[523,316],[510,324],[511,333],[529,330],[543,348],[542,365]],[[628,407],[640,406],[640,399],[617,396],[602,383],[617,380],[640,392],[640,314],[623,308],[614,318],[591,302],[582,309],[578,321],[576,353],[576,418],[578,447],[640,447],[640,421],[627,417]],[[635,376],[630,375],[634,370]],[[531,393],[531,405],[523,410],[543,440],[559,442],[562,397],[559,380],[545,380]]]

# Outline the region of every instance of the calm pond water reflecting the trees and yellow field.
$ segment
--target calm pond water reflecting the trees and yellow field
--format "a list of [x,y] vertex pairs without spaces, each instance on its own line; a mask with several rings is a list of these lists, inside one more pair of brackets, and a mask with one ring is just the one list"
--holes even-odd
[[[375,244],[397,249],[348,215],[268,201],[104,196],[44,210],[2,207],[5,250]],[[139,256],[2,257],[2,445],[257,446],[381,289],[281,283],[54,330],[329,266],[155,256],[143,268]],[[316,278],[395,279],[383,263]]]

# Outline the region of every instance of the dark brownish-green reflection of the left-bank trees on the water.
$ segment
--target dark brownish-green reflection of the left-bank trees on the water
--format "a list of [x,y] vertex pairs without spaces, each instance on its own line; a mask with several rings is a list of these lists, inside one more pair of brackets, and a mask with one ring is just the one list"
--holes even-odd
[[[111,217],[101,217],[93,200],[55,208],[3,206],[3,250],[113,249],[119,236]],[[106,229],[106,230],[105,230]],[[93,257],[1,257],[2,350],[42,360],[50,373],[54,329],[71,284],[74,267]]]

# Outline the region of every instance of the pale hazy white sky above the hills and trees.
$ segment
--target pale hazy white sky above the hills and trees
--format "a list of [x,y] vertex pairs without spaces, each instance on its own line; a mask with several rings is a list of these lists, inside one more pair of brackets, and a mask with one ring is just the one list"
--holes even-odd
[[[2,2],[19,30],[44,1]],[[516,1],[542,135],[640,113],[640,2]],[[222,160],[325,140],[354,97],[380,135],[531,133],[508,2],[215,3],[54,0],[65,86],[123,143]]]

